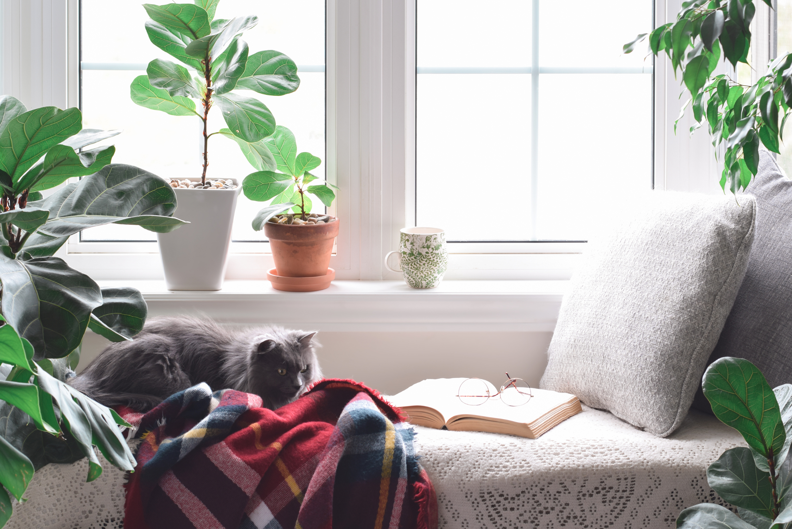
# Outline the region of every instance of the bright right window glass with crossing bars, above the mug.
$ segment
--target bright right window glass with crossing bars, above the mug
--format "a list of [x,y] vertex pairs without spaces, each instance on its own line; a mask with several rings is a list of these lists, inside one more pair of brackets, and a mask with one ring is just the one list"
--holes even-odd
[[652,185],[651,0],[417,0],[415,223],[582,241]]

